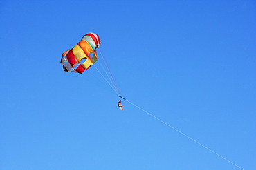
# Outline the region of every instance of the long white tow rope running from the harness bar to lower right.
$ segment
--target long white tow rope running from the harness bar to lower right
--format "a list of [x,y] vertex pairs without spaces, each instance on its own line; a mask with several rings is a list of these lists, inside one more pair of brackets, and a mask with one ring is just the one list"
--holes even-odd
[[[230,160],[228,160],[227,158],[224,158],[223,156],[219,155],[219,153],[215,152],[215,151],[212,151],[212,149],[208,148],[208,147],[205,147],[205,145],[201,144],[200,142],[194,140],[193,138],[191,138],[190,136],[184,134],[183,132],[179,131],[178,129],[172,127],[171,125],[169,125],[168,123],[165,123],[163,120],[161,120],[160,118],[157,118],[156,116],[152,115],[152,114],[149,114],[149,112],[145,111],[145,109],[142,109],[140,107],[138,107],[137,105],[135,105],[134,103],[131,103],[129,100],[126,100],[127,102],[129,102],[131,105],[134,105],[135,107],[137,107],[138,109],[144,111],[146,114],[148,114],[149,116],[152,116],[153,118],[155,118],[156,120],[159,120],[161,123],[167,125],[168,127],[171,127],[172,129],[174,129],[175,131],[178,131],[180,134],[182,134],[183,136],[189,138],[190,140],[196,142],[198,145],[201,145],[201,147],[204,147],[205,149],[208,149],[208,151],[211,151],[212,153],[214,153],[215,155],[223,158],[224,160],[230,162],[231,164],[235,165],[236,167],[238,167],[239,169],[242,169],[241,167],[239,167],[237,164],[231,162]],[[244,170],[244,169],[242,169]]]

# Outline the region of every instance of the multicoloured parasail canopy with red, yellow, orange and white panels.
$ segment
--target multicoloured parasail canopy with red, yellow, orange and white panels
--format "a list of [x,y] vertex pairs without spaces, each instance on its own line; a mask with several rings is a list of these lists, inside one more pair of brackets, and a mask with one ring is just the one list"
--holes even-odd
[[82,37],[82,40],[71,50],[62,54],[60,63],[65,72],[78,72],[82,74],[84,70],[89,69],[98,61],[97,52],[100,46],[100,37],[94,33],[88,33]]

